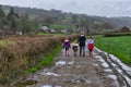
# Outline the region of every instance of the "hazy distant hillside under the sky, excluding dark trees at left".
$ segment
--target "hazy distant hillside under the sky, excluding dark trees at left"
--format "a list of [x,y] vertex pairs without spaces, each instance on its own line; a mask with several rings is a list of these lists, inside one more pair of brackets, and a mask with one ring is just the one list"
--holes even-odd
[[[8,14],[9,5],[2,5],[3,11]],[[131,27],[131,17],[106,17],[92,16],[86,14],[67,13],[59,10],[43,10],[36,8],[13,7],[20,15],[29,15],[31,21],[37,21],[41,25],[62,24],[75,26],[75,28],[85,27],[87,32],[103,32],[104,29],[115,29],[118,27]]]

